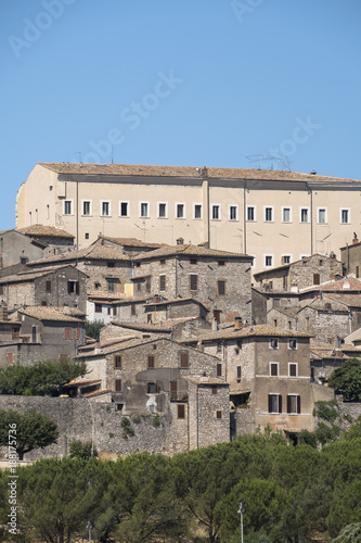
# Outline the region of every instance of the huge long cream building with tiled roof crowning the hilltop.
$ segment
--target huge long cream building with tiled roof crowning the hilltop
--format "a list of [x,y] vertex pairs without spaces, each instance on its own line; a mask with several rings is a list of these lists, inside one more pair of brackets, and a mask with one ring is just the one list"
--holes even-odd
[[360,189],[359,180],[295,172],[39,163],[18,190],[16,227],[55,226],[78,248],[100,232],[170,244],[182,236],[252,254],[260,272],[338,256],[360,225]]

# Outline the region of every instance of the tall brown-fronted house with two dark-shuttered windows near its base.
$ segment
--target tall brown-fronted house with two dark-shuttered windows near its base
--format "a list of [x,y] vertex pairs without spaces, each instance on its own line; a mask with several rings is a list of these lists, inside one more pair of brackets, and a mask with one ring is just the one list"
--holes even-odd
[[[220,357],[217,376],[230,383],[233,405],[247,405],[237,409],[235,433],[267,425],[292,435],[313,429],[309,333],[267,325],[242,328],[236,321],[233,328],[199,334],[197,345]],[[321,395],[330,399],[330,392]]]

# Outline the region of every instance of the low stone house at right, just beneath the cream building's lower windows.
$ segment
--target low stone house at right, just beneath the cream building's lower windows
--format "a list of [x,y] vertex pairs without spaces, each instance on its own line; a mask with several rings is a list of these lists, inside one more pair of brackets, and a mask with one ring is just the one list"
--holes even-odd
[[269,291],[294,291],[321,285],[343,276],[343,264],[336,256],[312,254],[296,262],[265,269],[254,275],[258,288]]

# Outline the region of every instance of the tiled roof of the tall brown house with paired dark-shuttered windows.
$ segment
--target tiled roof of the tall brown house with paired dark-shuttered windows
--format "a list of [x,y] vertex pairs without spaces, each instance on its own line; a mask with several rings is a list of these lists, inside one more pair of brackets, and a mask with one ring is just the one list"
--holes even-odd
[[295,332],[293,330],[282,330],[278,327],[270,325],[246,326],[244,328],[235,329],[225,328],[223,330],[201,332],[196,339],[184,340],[183,343],[194,343],[198,341],[212,341],[221,339],[241,339],[250,337],[272,337],[272,338],[311,338],[310,333]]

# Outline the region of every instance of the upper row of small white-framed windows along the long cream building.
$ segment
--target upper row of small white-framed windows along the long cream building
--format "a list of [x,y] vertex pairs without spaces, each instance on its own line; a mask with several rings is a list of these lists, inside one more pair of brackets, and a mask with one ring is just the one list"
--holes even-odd
[[[64,200],[64,215],[74,215],[74,201],[73,200]],[[129,217],[130,216],[130,202],[124,201],[119,202],[119,217]],[[92,200],[82,200],[81,201],[81,215],[82,216],[92,216],[93,214],[93,205]],[[100,215],[102,217],[111,217],[112,216],[112,202],[109,200],[101,200],[100,202]],[[150,218],[151,217],[151,203],[150,202],[139,202],[139,216],[141,218]],[[176,218],[186,218],[186,205],[185,203],[176,203],[175,210]],[[157,202],[157,218],[168,218],[168,202]],[[201,203],[193,204],[193,218],[202,219],[203,218],[203,205]],[[220,204],[211,204],[210,206],[210,218],[211,220],[221,220],[221,205]],[[228,219],[229,220],[240,220],[240,212],[238,205],[230,204],[228,206]],[[274,223],[275,213],[274,206],[270,205],[263,206],[263,220],[265,223]],[[246,220],[255,223],[257,222],[257,207],[255,205],[247,205],[246,207]],[[283,206],[281,210],[281,220],[282,223],[292,223],[293,222],[293,209],[292,206],[285,207]],[[318,207],[317,209],[317,220],[319,224],[326,224],[328,220],[327,217],[327,207]],[[309,223],[310,222],[310,207],[299,207],[299,223]],[[339,210],[339,222],[340,224],[350,224],[351,223],[351,210],[349,207],[340,207]]]

